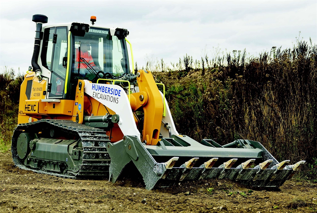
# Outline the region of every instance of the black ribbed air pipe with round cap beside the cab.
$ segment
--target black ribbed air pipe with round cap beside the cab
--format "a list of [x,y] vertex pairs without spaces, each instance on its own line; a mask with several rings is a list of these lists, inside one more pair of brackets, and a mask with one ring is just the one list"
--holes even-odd
[[42,25],[46,24],[48,21],[48,17],[46,15],[35,14],[32,16],[32,21],[36,22],[36,34],[35,34],[35,41],[34,41],[34,51],[32,56],[32,67],[33,71],[35,72],[35,76],[42,80],[42,70],[41,67],[37,64],[40,47],[41,47],[41,40],[43,39],[43,32],[42,32]]

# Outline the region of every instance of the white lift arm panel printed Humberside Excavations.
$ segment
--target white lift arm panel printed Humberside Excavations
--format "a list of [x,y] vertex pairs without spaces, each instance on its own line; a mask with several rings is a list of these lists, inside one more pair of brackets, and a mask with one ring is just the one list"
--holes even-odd
[[124,135],[135,135],[140,139],[140,132],[123,88],[118,85],[90,83],[85,80],[84,91],[119,115],[118,125]]

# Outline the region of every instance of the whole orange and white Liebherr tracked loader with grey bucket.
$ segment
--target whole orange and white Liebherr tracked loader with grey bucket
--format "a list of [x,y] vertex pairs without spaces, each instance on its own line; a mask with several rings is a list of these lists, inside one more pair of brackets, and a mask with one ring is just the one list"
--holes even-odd
[[178,133],[164,85],[149,70],[130,71],[126,29],[96,27],[94,16],[91,25],[43,27],[48,18],[39,14],[32,21],[32,66],[21,85],[12,137],[17,167],[115,182],[134,164],[151,190],[211,178],[279,187],[305,162],[278,162],[256,141],[220,145]]

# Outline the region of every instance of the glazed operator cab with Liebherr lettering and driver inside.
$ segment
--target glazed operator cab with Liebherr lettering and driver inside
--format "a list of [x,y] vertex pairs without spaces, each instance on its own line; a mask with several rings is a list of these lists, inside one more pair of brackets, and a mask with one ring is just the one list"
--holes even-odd
[[[81,30],[83,26],[85,30]],[[78,32],[74,30],[76,27]],[[47,98],[73,99],[78,79],[96,82],[99,78],[130,73],[127,35],[126,29],[90,27],[80,23],[45,27],[41,67],[44,68],[42,75],[49,78],[51,87]]]

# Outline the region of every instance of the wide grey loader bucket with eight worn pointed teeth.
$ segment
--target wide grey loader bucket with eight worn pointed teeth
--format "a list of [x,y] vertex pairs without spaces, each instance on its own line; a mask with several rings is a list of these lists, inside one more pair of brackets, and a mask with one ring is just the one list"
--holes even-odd
[[[234,146],[240,148],[231,148]],[[237,140],[221,146],[212,140],[198,143],[184,135],[162,138],[156,146],[144,145],[138,137],[126,135],[119,142],[107,143],[107,150],[111,157],[109,181],[114,183],[133,161],[147,190],[211,178],[247,186],[279,187],[305,163],[278,162],[256,141]]]

